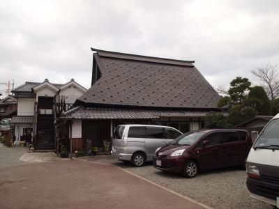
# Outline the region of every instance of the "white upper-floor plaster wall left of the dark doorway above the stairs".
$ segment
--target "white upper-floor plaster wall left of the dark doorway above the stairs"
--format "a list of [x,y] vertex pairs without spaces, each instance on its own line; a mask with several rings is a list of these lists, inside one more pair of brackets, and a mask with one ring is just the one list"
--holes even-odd
[[17,116],[33,116],[36,98],[17,98]]

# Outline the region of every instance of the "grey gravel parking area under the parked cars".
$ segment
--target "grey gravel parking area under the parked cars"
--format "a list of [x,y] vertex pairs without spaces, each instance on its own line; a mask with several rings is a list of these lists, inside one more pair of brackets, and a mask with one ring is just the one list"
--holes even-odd
[[246,187],[246,171],[241,169],[206,171],[199,173],[195,178],[186,179],[181,175],[158,171],[150,163],[135,168],[130,164],[117,162],[113,157],[80,157],[79,159],[121,167],[213,208],[273,208],[250,197]]

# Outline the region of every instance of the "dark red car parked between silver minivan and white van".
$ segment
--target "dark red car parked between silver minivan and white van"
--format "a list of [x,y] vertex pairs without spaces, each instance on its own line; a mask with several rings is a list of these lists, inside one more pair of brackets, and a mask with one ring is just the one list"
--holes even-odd
[[162,171],[193,178],[199,171],[244,167],[252,141],[246,130],[198,130],[187,132],[158,148],[153,165]]

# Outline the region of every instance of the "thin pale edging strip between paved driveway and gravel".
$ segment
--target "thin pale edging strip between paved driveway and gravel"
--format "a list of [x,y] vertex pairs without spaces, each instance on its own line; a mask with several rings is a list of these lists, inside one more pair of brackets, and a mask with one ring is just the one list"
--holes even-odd
[[[76,159],[76,160],[80,160],[80,159]],[[105,166],[109,166],[109,167],[116,167],[116,166],[114,166],[114,165],[112,165],[112,164],[105,164],[105,163],[103,163],[103,162],[92,162],[92,161],[89,161],[89,160],[80,160],[80,161],[91,162],[91,163],[100,164],[100,165],[105,165]],[[158,184],[156,184],[156,183],[153,183],[151,180],[147,180],[146,178],[143,178],[142,176],[139,176],[139,175],[137,175],[137,174],[135,174],[135,173],[132,173],[132,172],[130,172],[130,171],[127,171],[126,169],[122,169],[122,168],[120,168],[120,167],[116,167],[116,168],[117,168],[117,169],[120,169],[121,171],[124,171],[124,172],[126,172],[126,173],[129,173],[130,175],[133,175],[133,176],[135,176],[135,177],[137,177],[137,178],[140,178],[140,179],[142,179],[142,180],[145,180],[146,182],[151,183],[152,185],[154,185],[154,186],[156,186],[156,187],[160,187],[161,189],[164,189],[165,191],[167,191],[167,192],[169,192],[169,193],[172,193],[172,194],[174,194],[174,195],[176,195],[176,196],[179,196],[179,197],[181,197],[181,198],[183,198],[183,199],[186,199],[187,201],[190,201],[190,202],[192,202],[192,203],[195,203],[195,204],[197,204],[198,206],[201,206],[201,207],[206,208],[206,209],[213,209],[213,208],[211,208],[210,206],[206,206],[204,203],[201,203],[201,202],[199,202],[199,201],[196,201],[195,199],[192,199],[192,198],[190,198],[190,197],[188,197],[188,196],[184,196],[184,195],[182,195],[182,194],[179,194],[179,193],[177,193],[177,192],[174,192],[174,191],[172,191],[171,189],[168,189],[167,187],[163,187],[163,186],[161,186],[161,185],[158,185]]]

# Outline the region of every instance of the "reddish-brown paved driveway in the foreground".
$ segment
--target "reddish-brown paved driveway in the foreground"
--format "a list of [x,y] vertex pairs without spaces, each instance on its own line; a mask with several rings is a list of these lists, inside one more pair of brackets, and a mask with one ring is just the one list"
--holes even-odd
[[103,164],[54,160],[0,173],[1,208],[202,208]]

